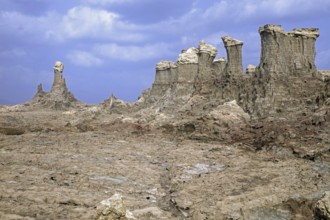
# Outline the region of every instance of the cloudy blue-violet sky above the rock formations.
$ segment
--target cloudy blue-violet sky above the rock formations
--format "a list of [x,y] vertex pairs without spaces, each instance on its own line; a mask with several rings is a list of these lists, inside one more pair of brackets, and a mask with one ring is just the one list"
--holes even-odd
[[69,90],[97,104],[134,102],[151,88],[156,64],[199,42],[244,42],[243,68],[260,61],[258,28],[317,27],[318,69],[330,70],[330,0],[0,0],[0,104],[49,91],[55,61]]

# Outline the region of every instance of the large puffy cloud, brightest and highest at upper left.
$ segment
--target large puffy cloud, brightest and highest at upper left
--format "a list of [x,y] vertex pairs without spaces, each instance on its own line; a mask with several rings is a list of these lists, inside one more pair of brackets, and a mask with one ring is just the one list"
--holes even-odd
[[94,38],[116,41],[138,42],[145,39],[143,27],[120,20],[116,13],[86,6],[71,8],[62,20],[47,31],[50,39]]

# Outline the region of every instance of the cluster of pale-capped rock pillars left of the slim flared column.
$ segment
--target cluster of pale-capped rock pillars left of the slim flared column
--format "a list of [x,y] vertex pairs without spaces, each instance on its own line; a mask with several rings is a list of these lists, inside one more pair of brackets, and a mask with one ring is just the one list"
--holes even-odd
[[214,46],[201,41],[197,48],[182,50],[175,63],[159,62],[148,101],[160,100],[169,90],[183,104],[200,87],[197,84],[213,81],[216,73],[220,75],[224,70],[225,60],[214,62],[217,52]]

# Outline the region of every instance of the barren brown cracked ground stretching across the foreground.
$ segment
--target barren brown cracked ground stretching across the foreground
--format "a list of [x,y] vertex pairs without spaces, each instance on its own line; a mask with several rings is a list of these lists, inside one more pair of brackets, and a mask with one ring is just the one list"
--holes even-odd
[[311,160],[75,117],[1,113],[0,219],[93,219],[114,193],[137,219],[310,219],[330,190],[329,151]]

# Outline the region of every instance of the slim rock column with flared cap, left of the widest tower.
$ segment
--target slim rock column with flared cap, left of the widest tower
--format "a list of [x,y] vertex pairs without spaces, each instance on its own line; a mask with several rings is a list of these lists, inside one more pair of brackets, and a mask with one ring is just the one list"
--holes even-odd
[[227,51],[226,72],[228,75],[243,74],[242,47],[243,42],[229,36],[222,37],[223,44]]

